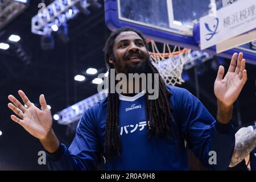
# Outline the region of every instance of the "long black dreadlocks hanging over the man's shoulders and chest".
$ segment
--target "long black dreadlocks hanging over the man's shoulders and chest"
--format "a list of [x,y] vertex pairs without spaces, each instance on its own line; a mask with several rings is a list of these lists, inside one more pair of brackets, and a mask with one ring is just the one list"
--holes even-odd
[[[134,28],[122,27],[112,32],[109,39],[106,41],[104,48],[105,62],[107,67],[109,67],[109,73],[110,69],[114,69],[114,65],[109,63],[109,59],[110,55],[113,55],[115,38],[117,38],[117,36],[122,32],[126,31],[133,31],[138,34],[142,38],[144,45],[147,47],[146,39],[142,33]],[[148,73],[153,73],[152,75],[154,75],[154,73],[159,73],[158,69],[156,69],[151,62],[149,63]],[[106,143],[104,150],[104,155],[107,159],[112,159],[115,152],[117,152],[118,156],[121,156],[121,139],[118,129],[119,97],[118,93],[116,92],[110,93],[110,75],[111,74],[108,76],[108,115],[106,118]],[[154,79],[152,79],[152,85],[154,85]],[[164,135],[169,138],[170,134],[172,134],[176,142],[176,138],[170,124],[170,121],[175,123],[174,118],[172,117],[170,96],[171,93],[166,88],[166,84],[164,83],[162,77],[159,77],[159,97],[156,100],[149,100],[148,93],[146,92],[146,121],[150,121],[150,124],[147,122],[147,134],[149,138],[150,133],[154,134],[156,138]]]

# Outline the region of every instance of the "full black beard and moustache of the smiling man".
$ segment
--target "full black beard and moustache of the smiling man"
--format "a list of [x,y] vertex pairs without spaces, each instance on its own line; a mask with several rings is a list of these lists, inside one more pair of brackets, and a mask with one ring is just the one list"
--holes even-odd
[[[129,55],[125,55],[123,56],[123,60],[127,60],[127,57],[129,57],[130,55],[133,55],[134,53],[129,53]],[[138,53],[139,54],[139,53]],[[117,71],[117,73],[125,73],[125,75],[128,76],[129,73],[148,73],[148,68],[150,67],[150,55],[142,55],[140,54],[141,59],[145,59],[142,60],[140,63],[138,64],[130,64],[130,63],[125,63],[124,67],[121,67],[121,60],[120,59],[116,59],[115,57],[113,57],[113,61],[115,63],[115,69]]]

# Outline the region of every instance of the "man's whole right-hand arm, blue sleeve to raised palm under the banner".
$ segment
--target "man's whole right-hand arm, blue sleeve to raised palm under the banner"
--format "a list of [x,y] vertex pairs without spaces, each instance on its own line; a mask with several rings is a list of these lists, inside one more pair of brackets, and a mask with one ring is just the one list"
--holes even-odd
[[[238,60],[237,60],[238,58]],[[220,66],[214,82],[214,94],[217,98],[217,121],[214,122],[208,111],[195,99],[190,99],[191,108],[186,111],[184,133],[187,132],[188,146],[195,152],[208,169],[225,170],[228,168],[234,149],[234,131],[230,123],[233,103],[239,96],[247,80],[245,59],[242,53],[234,53],[229,70],[224,76],[224,67]],[[237,60],[237,66],[236,66]],[[209,152],[217,155],[217,163],[209,163]]]

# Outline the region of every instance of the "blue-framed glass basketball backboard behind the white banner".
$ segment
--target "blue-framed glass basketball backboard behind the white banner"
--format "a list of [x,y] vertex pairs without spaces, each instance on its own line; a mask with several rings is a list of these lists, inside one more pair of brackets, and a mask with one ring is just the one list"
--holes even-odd
[[[105,22],[110,30],[129,26],[142,31],[147,39],[200,50],[196,35],[199,19],[236,0],[105,0]],[[240,0],[247,1],[247,0]],[[256,12],[256,10],[255,10]],[[247,63],[256,64],[256,42],[216,53],[216,46],[204,50],[230,58],[243,52]]]

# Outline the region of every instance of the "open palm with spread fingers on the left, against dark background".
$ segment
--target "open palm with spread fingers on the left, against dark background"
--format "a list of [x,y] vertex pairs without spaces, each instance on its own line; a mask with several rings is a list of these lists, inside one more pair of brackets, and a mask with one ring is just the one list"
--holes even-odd
[[42,110],[36,107],[28,100],[27,96],[22,90],[18,91],[19,96],[22,98],[24,107],[14,96],[9,95],[9,100],[13,103],[9,103],[8,107],[14,111],[18,117],[11,115],[11,119],[19,123],[25,130],[38,139],[44,139],[51,130],[52,127],[52,115],[48,109],[44,95],[39,97]]

